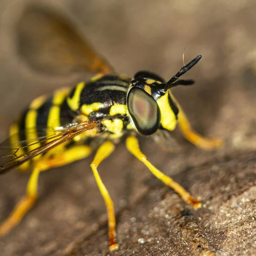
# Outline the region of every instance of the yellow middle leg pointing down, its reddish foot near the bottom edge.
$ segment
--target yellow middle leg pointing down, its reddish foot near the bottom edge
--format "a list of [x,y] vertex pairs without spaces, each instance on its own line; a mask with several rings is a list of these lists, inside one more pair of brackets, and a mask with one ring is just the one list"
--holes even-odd
[[104,201],[105,201],[105,204],[107,207],[108,238],[109,238],[110,250],[118,249],[118,244],[116,244],[116,218],[115,218],[115,212],[114,212],[114,204],[113,204],[113,201],[111,200],[108,190],[106,189],[104,183],[102,182],[101,177],[99,176],[97,167],[105,158],[107,158],[113,152],[114,148],[115,148],[114,144],[110,141],[103,143],[99,147],[99,149],[93,159],[93,162],[90,165],[93,170],[93,174],[94,174],[95,180],[97,182],[97,185],[99,187],[99,190],[102,194],[102,197],[104,198]]

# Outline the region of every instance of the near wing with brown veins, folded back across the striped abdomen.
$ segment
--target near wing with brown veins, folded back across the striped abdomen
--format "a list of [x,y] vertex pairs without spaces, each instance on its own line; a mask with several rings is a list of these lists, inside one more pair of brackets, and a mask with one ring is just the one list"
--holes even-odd
[[[37,132],[47,134],[41,137],[23,140],[17,143],[10,143],[12,137],[0,144],[0,174],[3,174],[11,169],[14,169],[26,161],[36,157],[84,131],[95,128],[98,125],[96,121],[81,122],[79,124],[70,125],[53,131],[52,128],[42,129]],[[28,131],[24,131],[26,134]],[[14,137],[16,134],[13,135]]]

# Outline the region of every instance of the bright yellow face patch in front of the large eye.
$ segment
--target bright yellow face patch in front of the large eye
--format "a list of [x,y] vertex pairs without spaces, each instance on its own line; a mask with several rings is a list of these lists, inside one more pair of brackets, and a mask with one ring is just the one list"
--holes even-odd
[[168,100],[168,91],[165,93],[165,95],[161,96],[157,100],[157,104],[161,111],[161,125],[163,128],[173,131],[176,127],[176,116],[175,113],[172,111],[171,106],[169,105]]

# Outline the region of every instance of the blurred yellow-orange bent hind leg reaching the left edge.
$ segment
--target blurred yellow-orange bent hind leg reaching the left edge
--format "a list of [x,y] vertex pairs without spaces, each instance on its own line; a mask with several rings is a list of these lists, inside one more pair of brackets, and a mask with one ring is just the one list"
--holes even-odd
[[[49,151],[50,152],[50,151]],[[38,197],[38,177],[39,173],[50,169],[52,167],[63,166],[73,161],[82,159],[90,155],[91,148],[88,146],[76,146],[68,149],[62,154],[55,157],[48,158],[50,155],[46,154],[35,164],[32,174],[27,184],[27,193],[17,203],[11,214],[0,224],[0,237],[9,233],[22,220],[24,215],[32,208]]]

